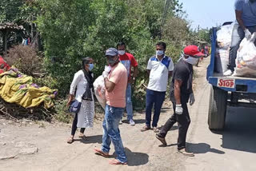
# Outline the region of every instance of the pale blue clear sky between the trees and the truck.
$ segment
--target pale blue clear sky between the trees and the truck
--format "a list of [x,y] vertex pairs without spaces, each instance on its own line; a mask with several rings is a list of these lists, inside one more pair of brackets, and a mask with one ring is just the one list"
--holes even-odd
[[235,0],[179,0],[183,3],[187,18],[192,22],[192,28],[210,29],[224,22],[234,22]]

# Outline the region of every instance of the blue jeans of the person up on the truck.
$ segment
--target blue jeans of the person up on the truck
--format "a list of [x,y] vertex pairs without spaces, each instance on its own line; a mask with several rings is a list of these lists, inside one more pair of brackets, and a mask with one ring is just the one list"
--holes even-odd
[[[247,26],[246,28],[250,31],[251,34],[256,31],[256,26]],[[245,38],[245,32],[242,30],[242,27],[238,24],[234,24],[230,46],[230,61],[228,66],[228,69],[232,70],[233,72],[235,67],[235,59],[237,58],[238,49],[243,38]]]

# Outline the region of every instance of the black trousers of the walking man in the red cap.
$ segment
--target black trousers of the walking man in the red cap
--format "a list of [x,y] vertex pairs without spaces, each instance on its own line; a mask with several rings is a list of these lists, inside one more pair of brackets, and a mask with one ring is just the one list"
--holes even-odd
[[167,132],[171,127],[178,122],[178,149],[185,149],[186,147],[186,133],[190,125],[190,114],[187,109],[186,101],[182,102],[183,113],[176,114],[175,108],[176,104],[173,102],[174,114],[166,121],[166,124],[163,125],[160,135],[161,137],[166,137]]

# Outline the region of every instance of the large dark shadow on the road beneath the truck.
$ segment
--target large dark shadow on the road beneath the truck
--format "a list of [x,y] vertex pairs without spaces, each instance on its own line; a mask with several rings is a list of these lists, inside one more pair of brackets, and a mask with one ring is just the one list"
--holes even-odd
[[229,107],[222,132],[222,148],[256,153],[256,109]]

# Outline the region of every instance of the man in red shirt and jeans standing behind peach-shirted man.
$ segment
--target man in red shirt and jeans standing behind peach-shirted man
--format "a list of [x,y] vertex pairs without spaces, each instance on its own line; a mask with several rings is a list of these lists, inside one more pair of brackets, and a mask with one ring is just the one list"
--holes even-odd
[[[133,119],[133,103],[131,101],[131,84],[134,83],[138,74],[138,62],[135,60],[134,55],[126,52],[126,44],[124,42],[118,42],[117,45],[120,62],[126,67],[128,75],[128,84],[126,88],[126,112],[127,119],[130,125],[135,125]],[[134,68],[133,74],[131,74],[131,67]],[[122,124],[122,121],[120,121]]]

